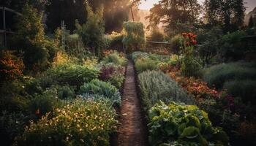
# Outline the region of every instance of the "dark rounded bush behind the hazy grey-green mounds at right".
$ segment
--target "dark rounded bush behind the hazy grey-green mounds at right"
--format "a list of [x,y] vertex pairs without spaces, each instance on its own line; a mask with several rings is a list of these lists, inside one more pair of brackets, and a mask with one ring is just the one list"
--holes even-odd
[[246,48],[244,48],[244,44],[241,41],[241,37],[244,36],[246,36],[244,31],[235,31],[222,37],[222,46],[219,52],[222,57],[225,58],[225,61],[238,61],[244,58],[244,53],[246,53],[246,50],[244,49]]

